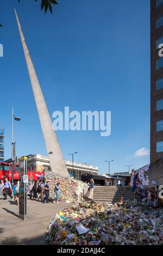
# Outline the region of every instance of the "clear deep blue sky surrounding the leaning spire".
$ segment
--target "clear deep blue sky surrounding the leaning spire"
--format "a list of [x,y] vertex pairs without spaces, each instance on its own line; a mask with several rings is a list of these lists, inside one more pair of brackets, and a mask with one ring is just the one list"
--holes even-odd
[[99,131],[58,131],[65,159],[99,167],[114,159],[111,172],[149,162],[149,0],[58,0],[53,16],[40,11],[40,1],[2,0],[0,44],[1,127],[5,159],[11,155],[11,109],[17,156],[47,154],[18,33],[14,8],[49,113],[111,111],[111,135]]

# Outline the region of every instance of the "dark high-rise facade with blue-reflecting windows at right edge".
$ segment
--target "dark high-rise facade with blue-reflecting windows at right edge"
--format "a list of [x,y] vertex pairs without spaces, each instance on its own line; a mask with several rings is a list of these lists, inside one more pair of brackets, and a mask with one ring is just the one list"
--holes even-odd
[[[151,0],[151,163],[163,157],[163,0]],[[162,51],[163,53],[163,51]]]

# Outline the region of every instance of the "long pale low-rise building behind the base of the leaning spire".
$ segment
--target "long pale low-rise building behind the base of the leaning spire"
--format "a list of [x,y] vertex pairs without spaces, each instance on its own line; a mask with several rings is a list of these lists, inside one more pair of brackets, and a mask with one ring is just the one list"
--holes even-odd
[[[65,161],[68,173],[74,176],[75,179],[81,180],[81,175],[85,173],[97,174],[98,167],[90,166],[86,163],[78,163],[71,161]],[[50,162],[48,156],[34,154],[27,156],[27,168],[35,172],[51,171]]]

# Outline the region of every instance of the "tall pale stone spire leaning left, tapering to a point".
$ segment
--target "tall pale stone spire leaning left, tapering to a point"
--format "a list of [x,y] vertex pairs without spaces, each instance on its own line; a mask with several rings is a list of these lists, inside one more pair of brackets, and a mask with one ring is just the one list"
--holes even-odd
[[27,68],[29,72],[30,82],[32,84],[32,89],[35,97],[36,107],[39,113],[39,119],[40,119],[40,124],[42,128],[43,138],[45,140],[49,161],[51,163],[51,169],[52,169],[52,172],[54,173],[57,173],[63,176],[68,176],[65,160],[61,153],[57,136],[52,127],[52,121],[46,106],[45,99],[42,94],[42,90],[34,69],[32,59],[30,58],[26,40],[24,38],[22,29],[21,29],[20,21],[18,20],[16,10],[15,10],[15,15],[16,15],[16,20],[17,20],[17,25],[20,32],[21,40],[22,40],[24,55],[26,57],[26,63],[27,63]]

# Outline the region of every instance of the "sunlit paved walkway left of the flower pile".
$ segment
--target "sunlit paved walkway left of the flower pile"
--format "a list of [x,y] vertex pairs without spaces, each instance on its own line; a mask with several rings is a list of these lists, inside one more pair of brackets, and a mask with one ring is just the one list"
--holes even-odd
[[45,245],[43,235],[49,221],[66,203],[41,203],[27,199],[27,221],[18,218],[14,199],[0,199],[0,245]]

